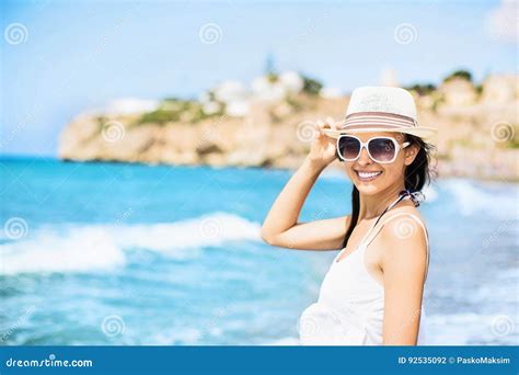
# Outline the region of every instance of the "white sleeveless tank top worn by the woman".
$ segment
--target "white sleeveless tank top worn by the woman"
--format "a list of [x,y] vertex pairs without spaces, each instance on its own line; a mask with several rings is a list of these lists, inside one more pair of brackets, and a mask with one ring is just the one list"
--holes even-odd
[[[384,288],[368,273],[365,252],[385,223],[403,215],[411,217],[425,230],[427,280],[429,241],[422,220],[410,213],[397,213],[381,220],[381,225],[373,231],[376,221],[353,252],[337,262],[346,249],[344,248],[334,258],[321,284],[318,302],[310,305],[299,319],[299,340],[302,345],[382,345]],[[405,224],[402,226],[403,230]],[[426,320],[423,305],[418,345],[426,344]]]

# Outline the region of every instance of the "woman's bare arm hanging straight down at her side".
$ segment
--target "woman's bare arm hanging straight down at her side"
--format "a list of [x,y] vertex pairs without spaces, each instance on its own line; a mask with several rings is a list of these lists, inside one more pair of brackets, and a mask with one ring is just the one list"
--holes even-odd
[[[411,236],[397,236],[413,221]],[[425,232],[410,218],[391,220],[381,230],[384,280],[384,345],[416,345],[427,270]]]

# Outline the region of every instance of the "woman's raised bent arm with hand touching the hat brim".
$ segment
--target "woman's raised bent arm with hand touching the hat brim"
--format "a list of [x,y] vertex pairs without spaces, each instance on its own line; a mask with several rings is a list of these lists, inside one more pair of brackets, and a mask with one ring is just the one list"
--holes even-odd
[[290,178],[274,202],[262,228],[262,238],[269,245],[301,250],[336,250],[341,248],[348,226],[348,216],[310,223],[298,223],[302,205],[321,172],[335,158],[335,140],[321,129],[334,126],[333,120],[318,123],[310,154]]

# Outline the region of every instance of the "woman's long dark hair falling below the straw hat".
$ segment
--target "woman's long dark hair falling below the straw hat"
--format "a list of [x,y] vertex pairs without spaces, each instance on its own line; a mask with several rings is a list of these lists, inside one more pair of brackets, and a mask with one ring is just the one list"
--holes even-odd
[[[411,191],[422,191],[425,184],[428,184],[431,180],[432,173],[430,167],[430,154],[435,149],[435,146],[425,143],[422,138],[405,134],[405,140],[410,141],[411,145],[417,145],[419,147],[418,155],[415,160],[407,166],[404,172],[404,184],[405,189]],[[360,211],[360,196],[359,191],[354,185],[351,191],[351,219],[349,221],[348,230],[343,241],[343,249],[348,245],[349,237],[357,226]]]

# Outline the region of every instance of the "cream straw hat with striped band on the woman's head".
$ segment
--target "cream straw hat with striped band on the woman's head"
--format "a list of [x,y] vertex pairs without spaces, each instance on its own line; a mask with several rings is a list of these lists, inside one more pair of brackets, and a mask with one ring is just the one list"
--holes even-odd
[[362,87],[355,89],[346,118],[337,129],[323,129],[330,137],[367,132],[396,132],[420,137],[435,144],[438,129],[420,126],[413,95],[394,87]]

